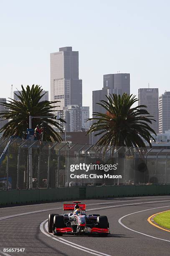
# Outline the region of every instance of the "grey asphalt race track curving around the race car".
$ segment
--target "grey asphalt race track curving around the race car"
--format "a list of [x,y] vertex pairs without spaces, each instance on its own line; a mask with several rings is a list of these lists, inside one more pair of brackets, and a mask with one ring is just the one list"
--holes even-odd
[[[76,198],[75,198],[76,200]],[[170,209],[170,196],[84,200],[87,213],[107,215],[108,237],[53,236],[46,231],[49,213],[62,213],[63,202],[0,208],[0,255],[170,255],[170,233],[147,222]],[[25,248],[3,252],[3,248]]]

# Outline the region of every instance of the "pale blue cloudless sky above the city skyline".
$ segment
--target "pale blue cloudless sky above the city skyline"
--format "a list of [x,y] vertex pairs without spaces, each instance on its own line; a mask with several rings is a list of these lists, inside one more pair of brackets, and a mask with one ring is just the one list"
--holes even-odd
[[83,105],[103,74],[127,72],[131,93],[170,90],[169,0],[0,0],[0,97],[10,85],[50,90],[50,53],[79,51]]

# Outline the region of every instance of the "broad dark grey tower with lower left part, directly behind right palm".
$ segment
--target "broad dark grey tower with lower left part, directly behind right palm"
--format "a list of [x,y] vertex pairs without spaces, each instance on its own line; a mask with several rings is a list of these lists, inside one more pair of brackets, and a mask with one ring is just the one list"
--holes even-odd
[[130,74],[105,74],[102,90],[93,91],[93,112],[105,113],[104,108],[96,104],[100,100],[107,100],[105,95],[115,93],[122,96],[124,92],[130,94]]

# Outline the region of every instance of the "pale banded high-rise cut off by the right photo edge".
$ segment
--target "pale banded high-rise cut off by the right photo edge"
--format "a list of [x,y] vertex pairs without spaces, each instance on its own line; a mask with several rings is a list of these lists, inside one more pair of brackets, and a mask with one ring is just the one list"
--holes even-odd
[[159,97],[159,133],[170,129],[170,92]]

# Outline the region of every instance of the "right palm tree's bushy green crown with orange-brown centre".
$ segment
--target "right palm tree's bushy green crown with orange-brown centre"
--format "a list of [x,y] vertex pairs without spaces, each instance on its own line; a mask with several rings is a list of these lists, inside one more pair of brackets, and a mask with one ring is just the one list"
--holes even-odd
[[109,95],[106,100],[96,103],[106,110],[106,114],[94,112],[95,120],[87,133],[95,132],[94,136],[101,135],[96,145],[104,147],[104,152],[110,146],[127,146],[127,147],[146,147],[144,139],[150,143],[150,139],[154,138],[151,133],[155,131],[150,127],[153,116],[151,116],[145,108],[145,105],[132,107],[138,101],[136,96],[127,95]]

